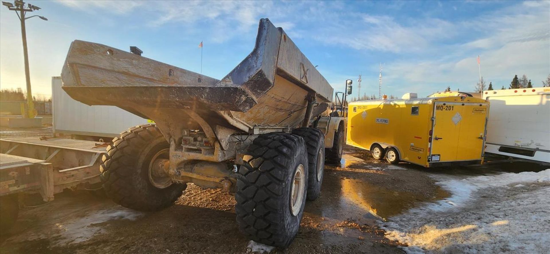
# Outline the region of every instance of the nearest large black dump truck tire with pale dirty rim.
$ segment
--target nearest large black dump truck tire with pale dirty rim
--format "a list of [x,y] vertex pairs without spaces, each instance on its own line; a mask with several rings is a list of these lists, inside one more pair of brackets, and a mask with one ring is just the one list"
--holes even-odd
[[298,233],[307,196],[304,139],[289,133],[260,135],[243,156],[239,173],[239,229],[256,242],[288,247]]

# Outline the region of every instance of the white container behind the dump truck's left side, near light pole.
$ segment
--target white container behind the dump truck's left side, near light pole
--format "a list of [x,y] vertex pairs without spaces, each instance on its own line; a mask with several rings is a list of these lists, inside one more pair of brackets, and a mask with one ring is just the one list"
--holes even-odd
[[70,98],[61,86],[61,77],[52,77],[54,133],[117,137],[129,127],[147,123],[147,119],[116,106],[80,103]]

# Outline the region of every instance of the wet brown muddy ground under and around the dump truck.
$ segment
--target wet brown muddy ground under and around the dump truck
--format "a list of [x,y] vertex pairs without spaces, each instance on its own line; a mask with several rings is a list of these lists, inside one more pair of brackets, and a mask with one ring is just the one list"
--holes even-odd
[[[306,203],[293,244],[271,253],[403,253],[402,244],[385,238],[379,225],[450,195],[428,174],[499,170],[395,166],[348,146],[340,165],[326,166],[321,196]],[[252,251],[235,223],[233,195],[219,189],[189,184],[174,206],[151,213],[128,210],[88,191],[65,191],[44,205],[29,200],[17,225],[2,237],[0,253]]]

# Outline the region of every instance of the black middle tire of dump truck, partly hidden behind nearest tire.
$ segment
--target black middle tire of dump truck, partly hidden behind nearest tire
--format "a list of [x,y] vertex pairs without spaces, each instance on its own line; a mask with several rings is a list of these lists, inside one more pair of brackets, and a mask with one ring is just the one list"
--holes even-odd
[[317,128],[298,128],[292,131],[304,138],[307,146],[307,200],[313,201],[321,194],[324,172],[324,135]]

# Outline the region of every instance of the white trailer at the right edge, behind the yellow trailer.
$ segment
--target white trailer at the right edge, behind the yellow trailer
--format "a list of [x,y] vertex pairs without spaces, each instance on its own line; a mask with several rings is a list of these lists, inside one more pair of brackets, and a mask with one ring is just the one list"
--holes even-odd
[[491,90],[486,153],[550,163],[550,87]]

